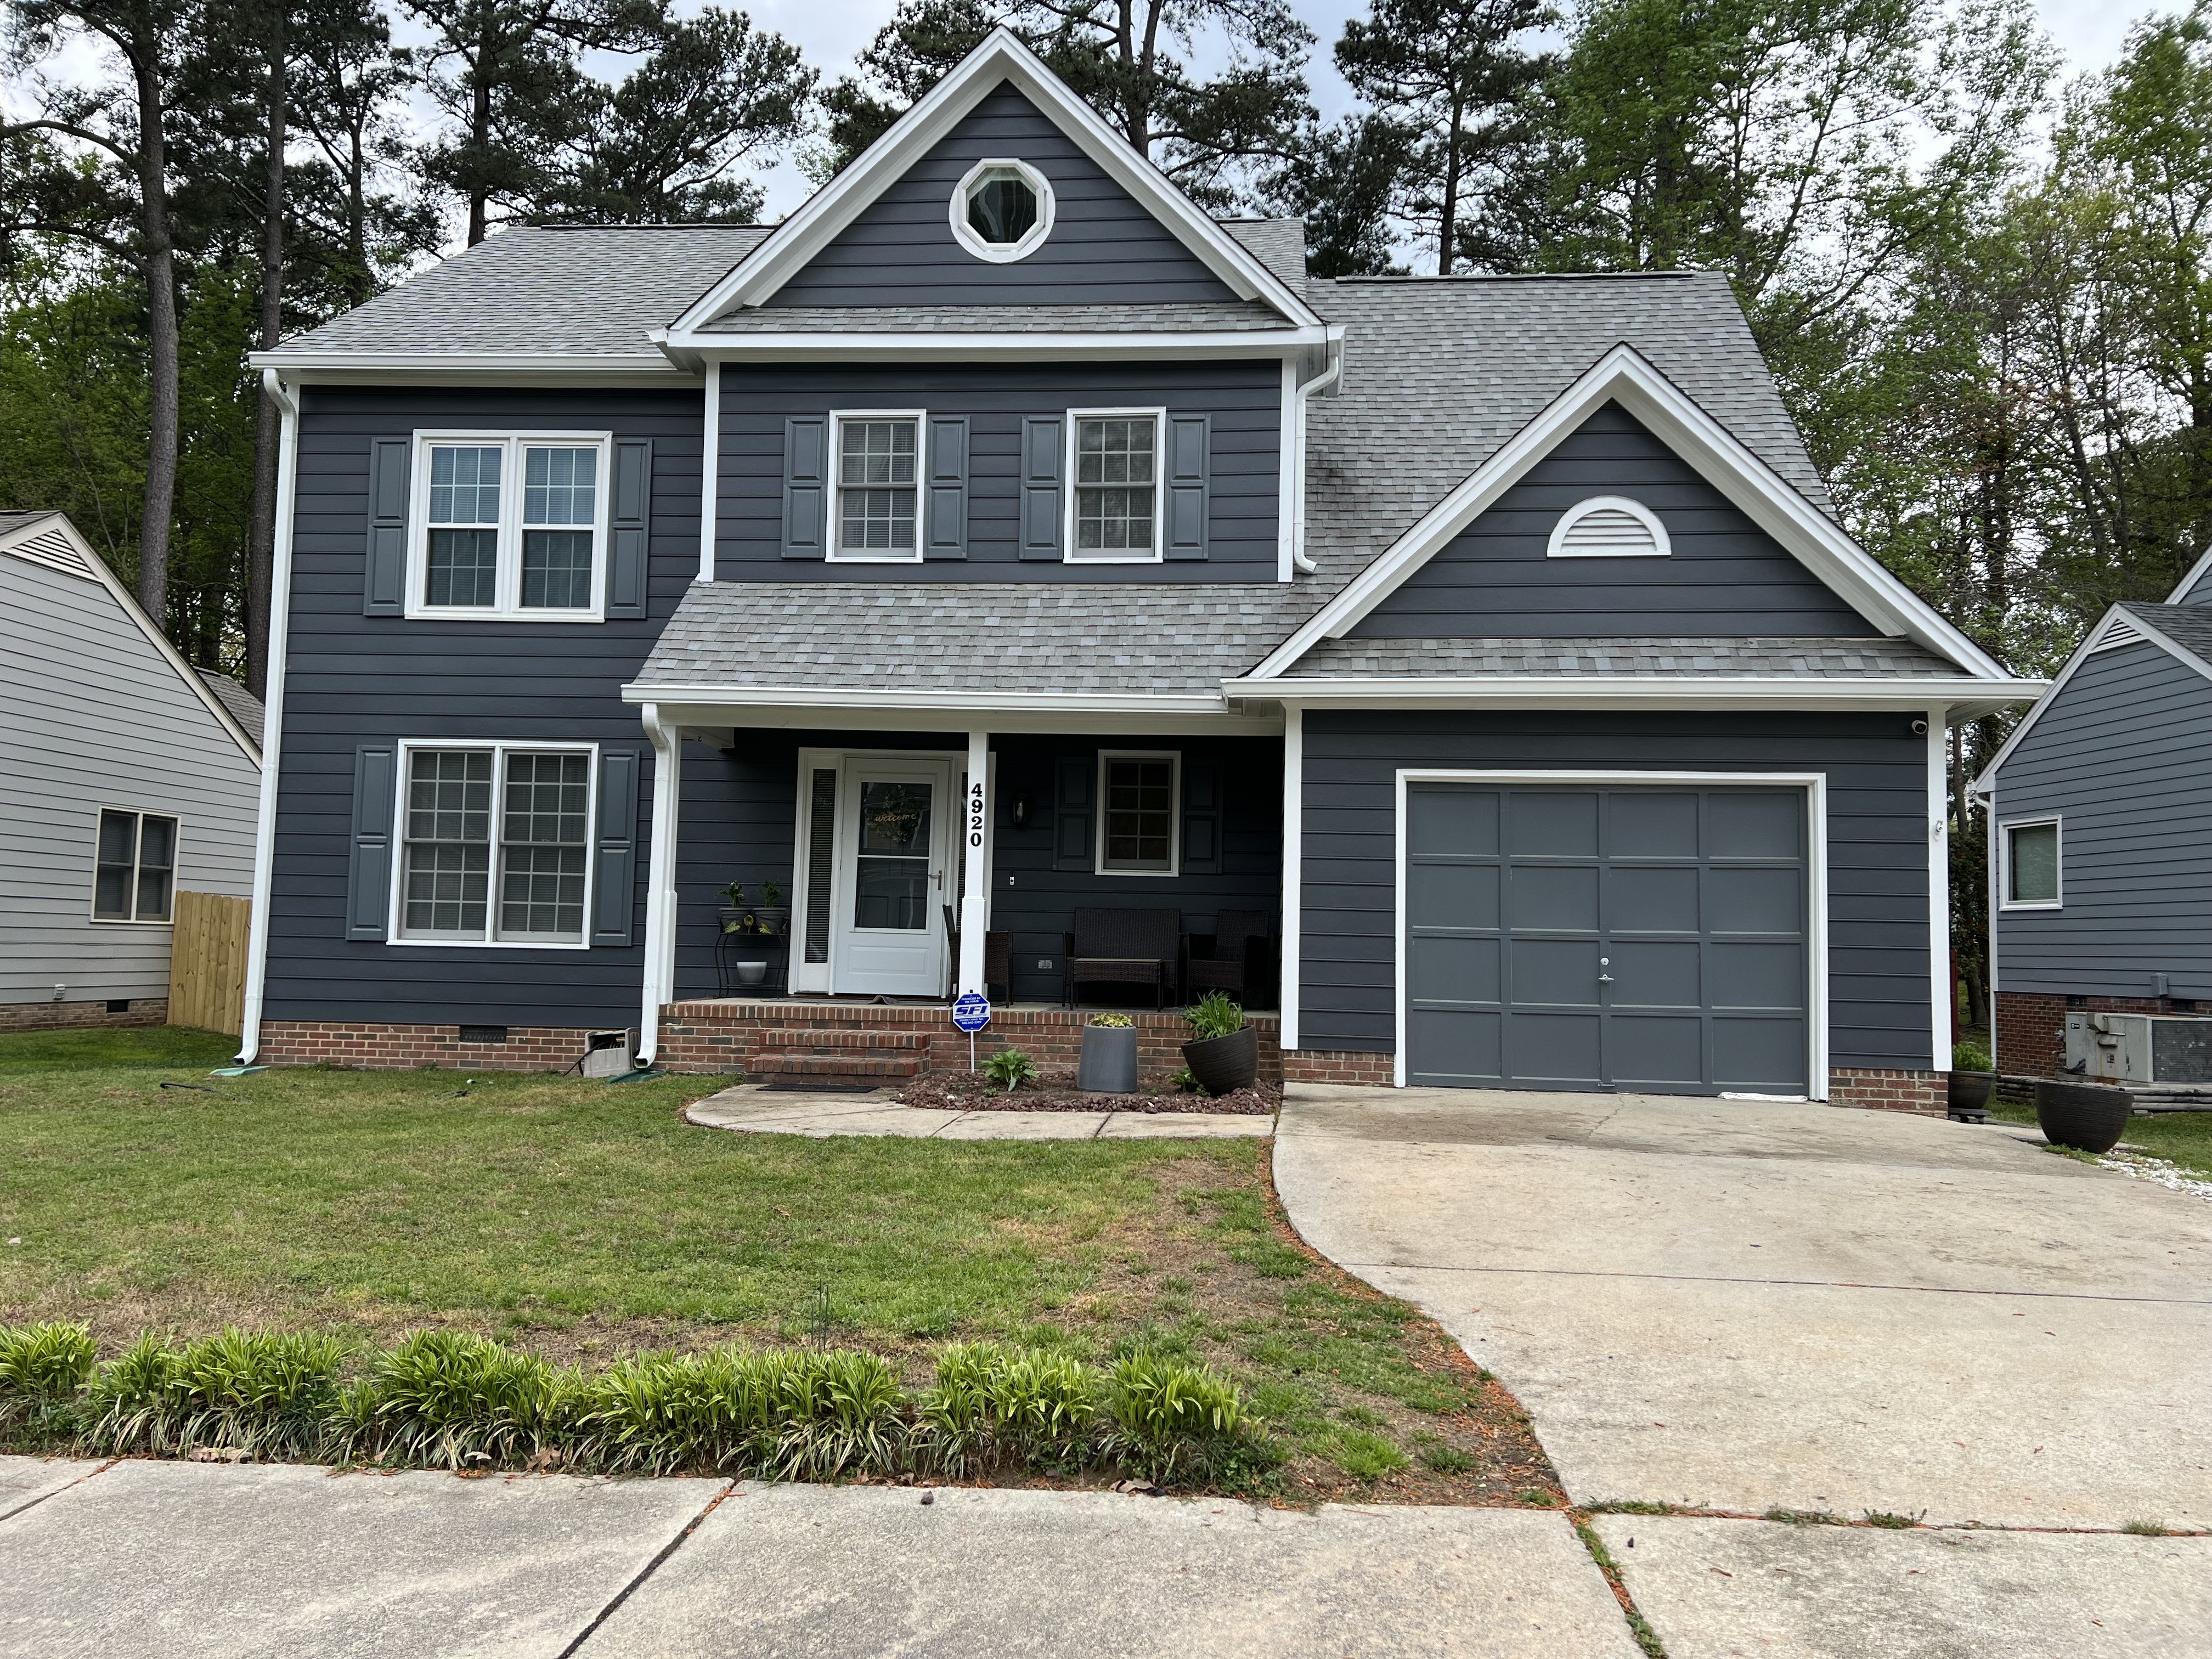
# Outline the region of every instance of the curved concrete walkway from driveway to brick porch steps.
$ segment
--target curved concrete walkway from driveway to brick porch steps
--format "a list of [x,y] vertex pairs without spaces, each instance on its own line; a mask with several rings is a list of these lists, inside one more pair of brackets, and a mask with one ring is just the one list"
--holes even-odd
[[900,1106],[891,1091],[801,1095],[739,1084],[686,1106],[701,1128],[754,1135],[907,1135],[940,1141],[1097,1141],[1221,1139],[1274,1135],[1274,1117],[1254,1113],[953,1113]]

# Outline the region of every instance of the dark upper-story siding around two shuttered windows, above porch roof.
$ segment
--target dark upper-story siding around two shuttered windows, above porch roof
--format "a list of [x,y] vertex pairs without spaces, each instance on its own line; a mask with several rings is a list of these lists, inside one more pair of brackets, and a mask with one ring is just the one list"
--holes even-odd
[[[1170,416],[1212,418],[1206,560],[1020,557],[1022,418],[1091,407],[1166,407]],[[969,418],[967,557],[922,564],[783,557],[785,420],[832,409]],[[723,582],[1274,582],[1281,427],[1279,363],[732,365],[721,374],[714,568]]]

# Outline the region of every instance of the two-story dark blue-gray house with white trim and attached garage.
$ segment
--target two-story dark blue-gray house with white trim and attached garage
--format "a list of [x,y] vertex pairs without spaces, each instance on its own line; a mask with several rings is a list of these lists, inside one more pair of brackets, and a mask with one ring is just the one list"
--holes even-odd
[[695,1064],[774,880],[821,1009],[1265,911],[1292,1077],[1940,1099],[1942,734],[2037,688],[1717,274],[1310,281],[1000,33],[772,230],[513,230],[257,363],[265,1060]]

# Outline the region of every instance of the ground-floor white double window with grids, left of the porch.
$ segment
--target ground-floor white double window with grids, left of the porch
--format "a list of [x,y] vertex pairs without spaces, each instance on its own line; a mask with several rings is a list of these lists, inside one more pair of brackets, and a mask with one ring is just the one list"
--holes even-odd
[[418,945],[584,945],[593,748],[403,750],[398,927]]

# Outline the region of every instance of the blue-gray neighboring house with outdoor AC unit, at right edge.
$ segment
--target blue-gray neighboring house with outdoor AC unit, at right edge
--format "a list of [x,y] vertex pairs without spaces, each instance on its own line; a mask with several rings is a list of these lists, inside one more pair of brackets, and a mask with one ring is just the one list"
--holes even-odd
[[1973,787],[1997,1064],[2059,1075],[2077,1015],[2075,1066],[2212,1082],[2212,1055],[2146,1077],[2148,1026],[2099,1018],[2212,1015],[2212,553],[2166,604],[2106,611]]

